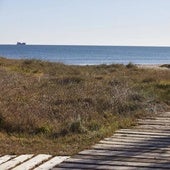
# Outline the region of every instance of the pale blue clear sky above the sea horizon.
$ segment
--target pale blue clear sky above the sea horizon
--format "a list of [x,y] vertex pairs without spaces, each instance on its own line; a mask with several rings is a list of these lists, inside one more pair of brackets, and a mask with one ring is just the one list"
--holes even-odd
[[170,46],[170,0],[0,0],[0,44]]

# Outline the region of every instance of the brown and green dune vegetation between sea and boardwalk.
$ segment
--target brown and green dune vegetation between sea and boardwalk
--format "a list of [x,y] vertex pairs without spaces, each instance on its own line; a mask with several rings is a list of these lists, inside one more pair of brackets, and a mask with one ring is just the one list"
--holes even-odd
[[71,155],[170,108],[170,70],[0,58],[0,153]]

